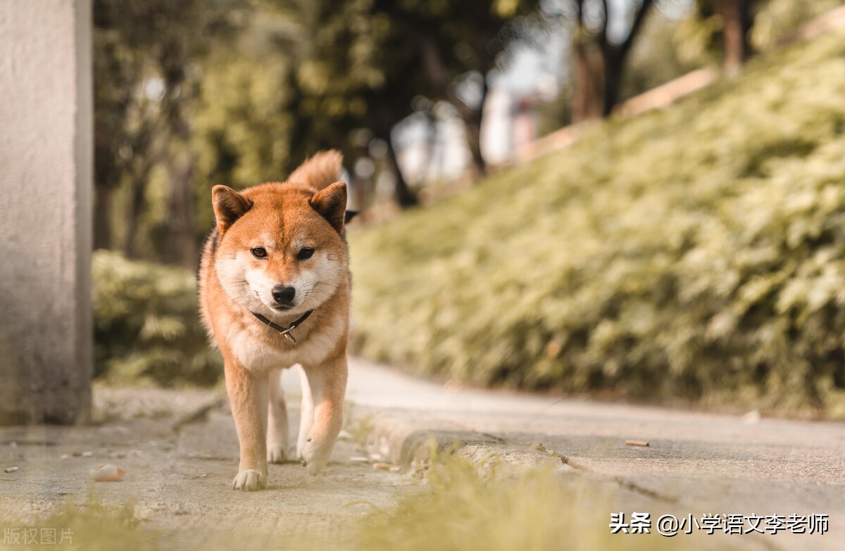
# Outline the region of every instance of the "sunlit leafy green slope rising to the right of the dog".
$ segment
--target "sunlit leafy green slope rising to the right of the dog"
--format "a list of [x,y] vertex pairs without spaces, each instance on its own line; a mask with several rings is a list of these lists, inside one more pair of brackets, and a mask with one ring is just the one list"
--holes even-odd
[[845,417],[845,36],[351,236],[355,345],[486,385]]

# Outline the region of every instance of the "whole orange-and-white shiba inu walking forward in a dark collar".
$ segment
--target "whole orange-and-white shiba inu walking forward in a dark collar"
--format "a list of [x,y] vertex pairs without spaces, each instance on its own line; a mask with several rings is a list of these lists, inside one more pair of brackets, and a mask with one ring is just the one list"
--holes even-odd
[[240,466],[232,488],[267,485],[287,459],[282,368],[303,368],[297,458],[317,474],[341,430],[349,332],[346,184],[324,151],[285,183],[211,190],[216,224],[199,265],[204,325],[223,354]]

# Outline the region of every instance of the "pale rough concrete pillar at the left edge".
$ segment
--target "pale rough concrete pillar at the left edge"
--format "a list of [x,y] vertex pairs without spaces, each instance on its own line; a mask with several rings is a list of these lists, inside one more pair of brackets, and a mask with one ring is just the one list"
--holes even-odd
[[0,424],[90,418],[90,0],[0,0]]

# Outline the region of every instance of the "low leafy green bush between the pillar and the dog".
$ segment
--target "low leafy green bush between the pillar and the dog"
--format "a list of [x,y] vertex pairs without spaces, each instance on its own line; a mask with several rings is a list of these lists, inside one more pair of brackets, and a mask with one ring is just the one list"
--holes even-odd
[[194,274],[94,254],[95,374],[107,381],[214,385],[221,359],[199,323]]

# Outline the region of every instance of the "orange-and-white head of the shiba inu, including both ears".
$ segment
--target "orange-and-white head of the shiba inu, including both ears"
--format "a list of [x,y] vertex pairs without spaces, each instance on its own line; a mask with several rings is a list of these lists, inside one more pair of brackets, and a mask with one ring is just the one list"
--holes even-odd
[[269,183],[238,194],[212,190],[217,230],[215,271],[226,294],[273,319],[317,308],[346,276],[341,235],[346,184],[314,192],[295,183]]

